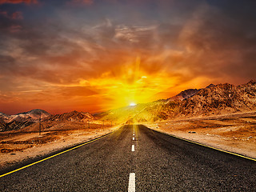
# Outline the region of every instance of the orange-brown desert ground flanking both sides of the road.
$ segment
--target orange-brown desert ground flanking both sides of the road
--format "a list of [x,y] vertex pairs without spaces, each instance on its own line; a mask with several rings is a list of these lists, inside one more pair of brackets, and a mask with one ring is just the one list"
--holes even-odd
[[[0,133],[0,168],[108,134],[121,124],[43,122]],[[151,129],[256,158],[256,112],[144,123]]]

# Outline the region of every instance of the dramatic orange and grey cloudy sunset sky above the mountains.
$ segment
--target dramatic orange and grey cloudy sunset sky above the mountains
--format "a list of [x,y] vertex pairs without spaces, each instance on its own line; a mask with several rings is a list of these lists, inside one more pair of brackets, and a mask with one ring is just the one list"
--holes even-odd
[[90,113],[255,79],[254,0],[0,0],[0,111]]

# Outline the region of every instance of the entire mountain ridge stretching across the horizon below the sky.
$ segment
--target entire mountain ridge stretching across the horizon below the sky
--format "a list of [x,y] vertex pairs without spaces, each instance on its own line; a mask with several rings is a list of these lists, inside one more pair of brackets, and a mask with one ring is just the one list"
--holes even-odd
[[38,118],[42,114],[42,121],[123,123],[161,122],[168,119],[234,114],[254,110],[256,110],[256,81],[251,80],[239,86],[223,83],[210,84],[202,89],[183,90],[172,98],[140,103],[136,106],[125,106],[94,115],[76,110],[51,115],[45,110],[39,109],[15,115],[0,113],[0,130],[4,123],[14,122],[16,125],[18,122],[38,122]]

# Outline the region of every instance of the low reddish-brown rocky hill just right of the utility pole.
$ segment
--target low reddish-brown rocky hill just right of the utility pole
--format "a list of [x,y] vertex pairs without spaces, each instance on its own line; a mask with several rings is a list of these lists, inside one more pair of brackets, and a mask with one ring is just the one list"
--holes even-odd
[[46,118],[44,121],[70,121],[70,122],[87,122],[94,120],[94,116],[90,113],[78,112],[76,110],[64,113],[64,114],[55,114]]

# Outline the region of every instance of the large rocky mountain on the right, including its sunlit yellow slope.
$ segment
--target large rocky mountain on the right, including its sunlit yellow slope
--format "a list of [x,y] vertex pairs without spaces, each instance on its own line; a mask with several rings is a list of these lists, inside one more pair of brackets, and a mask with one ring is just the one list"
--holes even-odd
[[128,118],[128,122],[157,122],[174,118],[254,111],[256,110],[256,82],[250,81],[242,86],[228,83],[216,86],[210,84],[200,90],[184,90],[173,98],[146,103],[142,106],[134,106],[129,113],[127,113],[127,107],[110,110],[103,113],[102,118],[108,120]]

